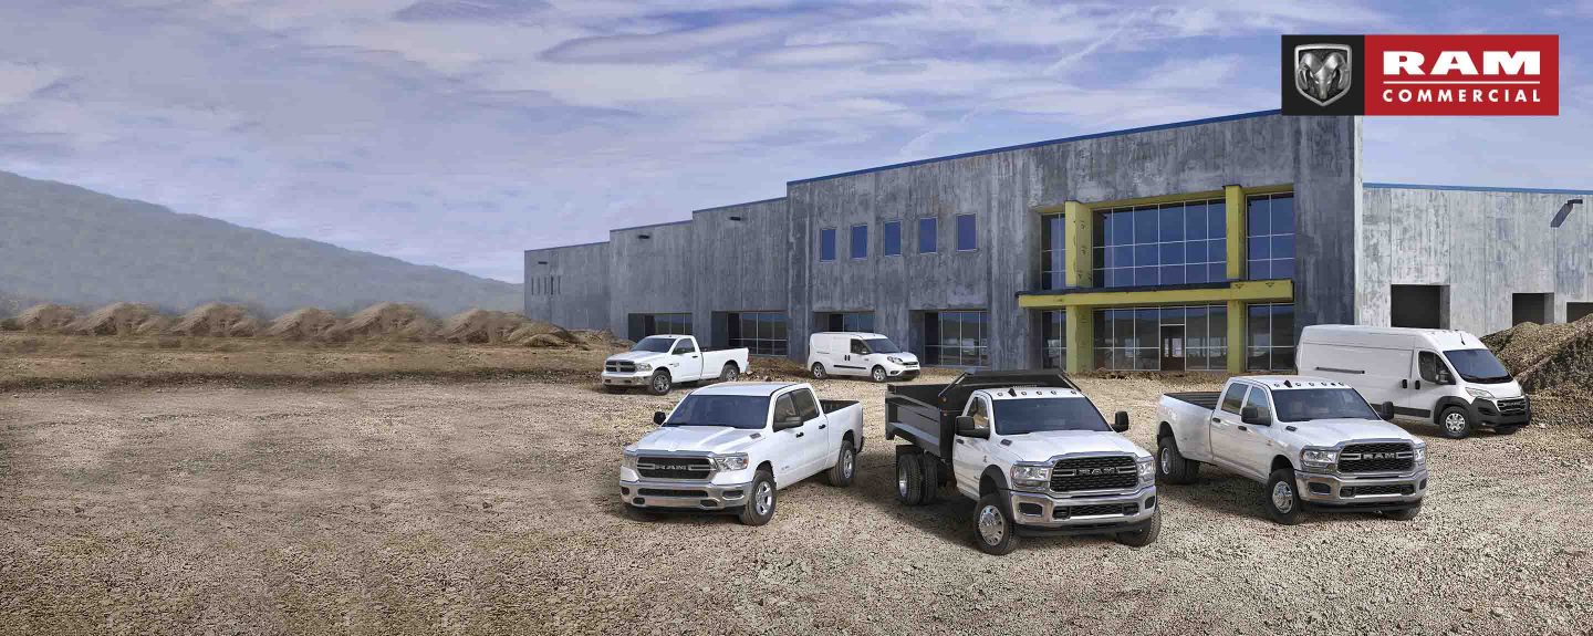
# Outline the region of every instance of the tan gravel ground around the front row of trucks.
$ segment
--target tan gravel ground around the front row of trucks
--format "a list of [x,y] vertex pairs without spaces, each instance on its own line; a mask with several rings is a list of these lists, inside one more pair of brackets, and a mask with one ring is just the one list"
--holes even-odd
[[[1184,379],[1083,379],[1144,446]],[[1590,633],[1593,435],[1427,438],[1421,516],[1276,526],[1219,470],[1163,489],[1161,540],[986,556],[972,502],[892,499],[883,387],[852,488],[763,528],[637,523],[621,445],[680,398],[589,384],[0,394],[0,634]]]

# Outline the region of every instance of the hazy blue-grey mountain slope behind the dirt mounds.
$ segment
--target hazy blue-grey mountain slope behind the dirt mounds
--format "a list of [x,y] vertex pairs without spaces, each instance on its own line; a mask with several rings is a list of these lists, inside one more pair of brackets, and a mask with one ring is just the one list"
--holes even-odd
[[[0,317],[33,301],[317,306],[416,303],[438,316],[523,306],[521,285],[0,172]],[[13,311],[8,311],[13,309]]]

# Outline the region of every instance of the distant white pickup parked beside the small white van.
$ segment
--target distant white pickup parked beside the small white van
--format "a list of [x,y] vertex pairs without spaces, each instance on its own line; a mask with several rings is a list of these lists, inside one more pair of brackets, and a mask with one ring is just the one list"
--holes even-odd
[[693,336],[647,336],[631,351],[604,360],[602,387],[620,392],[642,386],[653,395],[664,395],[680,383],[734,383],[747,373],[747,360],[746,347],[703,349]]

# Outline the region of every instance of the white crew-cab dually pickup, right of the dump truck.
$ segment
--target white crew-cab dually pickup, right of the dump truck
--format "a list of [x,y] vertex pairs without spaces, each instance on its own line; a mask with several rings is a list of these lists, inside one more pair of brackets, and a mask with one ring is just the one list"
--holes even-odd
[[1214,464],[1266,485],[1273,521],[1322,512],[1411,520],[1427,494],[1427,445],[1373,411],[1356,389],[1322,378],[1243,376],[1220,394],[1166,394],[1157,405],[1160,475],[1195,483]]

